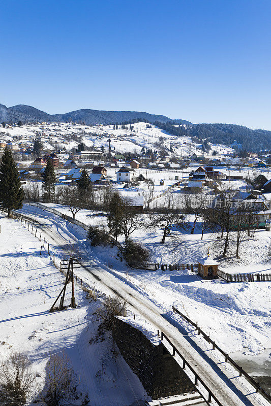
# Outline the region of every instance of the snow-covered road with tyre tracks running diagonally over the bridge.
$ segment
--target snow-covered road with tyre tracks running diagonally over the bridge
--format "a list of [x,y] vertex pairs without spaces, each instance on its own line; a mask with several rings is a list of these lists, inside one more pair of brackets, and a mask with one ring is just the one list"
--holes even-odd
[[[33,206],[24,205],[24,209],[20,211],[20,213],[42,230],[42,234],[49,244],[56,247],[58,246],[58,248],[67,249],[67,243],[71,241],[74,236],[66,228],[66,221],[52,214],[46,214],[45,218],[43,218],[40,213],[36,213],[36,210],[37,208]],[[74,241],[78,243],[76,238],[74,238]],[[204,380],[207,387],[219,399],[223,406],[263,406],[269,404],[267,400],[258,394],[252,394],[255,390],[244,378],[229,379],[217,366],[214,368],[212,362],[208,362],[204,359],[199,352],[188,343],[179,330],[165,320],[161,310],[156,307],[154,303],[150,302],[141,293],[125,283],[125,281],[115,277],[107,272],[106,269],[99,266],[94,259],[89,258],[89,253],[81,251],[80,255],[82,258],[81,264],[85,269],[84,276],[86,276],[86,279],[89,281],[87,276],[91,274],[91,281],[92,283],[93,281],[96,282],[95,285],[98,289],[107,294],[117,294],[121,296],[130,304],[130,308],[134,313],[140,315],[144,320],[152,324],[155,329],[163,331],[178,351],[191,364],[199,377]],[[235,374],[234,377],[236,377],[236,375],[237,374]],[[204,397],[207,398],[206,391],[202,391],[200,385],[198,389]],[[246,396],[248,394],[250,395]],[[216,402],[212,402],[212,404],[216,404]]]

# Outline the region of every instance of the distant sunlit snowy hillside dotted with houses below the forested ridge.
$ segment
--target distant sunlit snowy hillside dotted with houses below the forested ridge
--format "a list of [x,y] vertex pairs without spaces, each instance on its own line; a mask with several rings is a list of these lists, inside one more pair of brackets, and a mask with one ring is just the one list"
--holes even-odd
[[[191,137],[175,137],[155,125],[139,122],[128,125],[128,129],[114,129],[113,125],[86,126],[71,123],[25,124],[22,127],[6,126],[0,128],[0,141],[12,141],[14,136],[22,138],[22,142],[33,144],[37,136],[46,149],[66,148],[70,151],[77,147],[75,138],[81,139],[87,147],[108,150],[108,139],[111,140],[112,152],[131,152],[140,154],[142,147],[153,151],[165,151],[168,155],[196,156],[206,155],[202,145],[192,142]],[[170,151],[171,145],[171,151]],[[216,150],[219,155],[228,154],[233,150],[227,146],[210,144],[209,154]]]

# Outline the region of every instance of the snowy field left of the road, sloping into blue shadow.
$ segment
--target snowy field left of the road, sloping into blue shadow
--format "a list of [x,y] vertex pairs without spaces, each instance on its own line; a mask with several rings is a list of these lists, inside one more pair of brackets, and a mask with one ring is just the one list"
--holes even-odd
[[[43,387],[44,368],[52,354],[68,355],[94,406],[141,404],[146,393],[121,356],[116,361],[108,349],[108,339],[90,345],[97,323],[93,311],[97,302],[75,285],[78,307],[49,313],[64,284],[64,276],[53,266],[46,250],[40,255],[40,242],[20,222],[0,217],[0,358],[23,351],[33,363],[35,391]],[[99,294],[99,292],[98,292]],[[71,297],[67,288],[66,304]],[[106,364],[106,373],[96,376]],[[35,396],[33,400],[35,399]],[[143,402],[142,400],[142,402]],[[31,403],[31,405],[34,403]]]

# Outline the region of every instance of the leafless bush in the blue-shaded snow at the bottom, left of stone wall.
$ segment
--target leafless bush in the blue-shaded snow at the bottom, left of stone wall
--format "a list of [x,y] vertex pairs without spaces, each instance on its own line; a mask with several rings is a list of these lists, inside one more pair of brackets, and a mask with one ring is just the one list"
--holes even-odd
[[52,355],[45,369],[45,386],[40,394],[42,404],[47,406],[74,404],[71,400],[80,400],[81,406],[89,403],[88,395],[77,391],[79,381],[66,354]]

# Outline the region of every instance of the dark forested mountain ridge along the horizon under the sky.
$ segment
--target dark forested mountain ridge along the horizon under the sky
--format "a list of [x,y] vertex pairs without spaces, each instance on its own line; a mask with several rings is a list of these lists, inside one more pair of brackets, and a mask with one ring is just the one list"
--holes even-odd
[[[6,107],[0,104],[0,122],[66,122],[73,121],[86,125],[113,124],[123,122],[147,121],[156,124],[175,136],[191,136],[199,143],[207,140],[211,143],[229,146],[236,140],[243,145],[243,150],[257,152],[271,149],[271,131],[255,129],[236,124],[192,124],[190,121],[172,120],[163,115],[136,111],[106,111],[80,109],[65,114],[48,114],[32,106],[17,105]],[[182,125],[182,124],[185,124]]]

